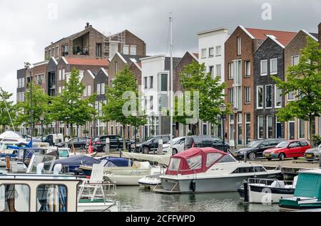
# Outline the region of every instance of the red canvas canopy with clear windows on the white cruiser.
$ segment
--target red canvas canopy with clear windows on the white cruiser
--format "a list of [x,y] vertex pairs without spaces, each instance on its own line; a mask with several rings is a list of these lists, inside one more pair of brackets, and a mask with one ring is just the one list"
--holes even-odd
[[191,148],[170,158],[166,175],[205,173],[228,154],[213,148]]

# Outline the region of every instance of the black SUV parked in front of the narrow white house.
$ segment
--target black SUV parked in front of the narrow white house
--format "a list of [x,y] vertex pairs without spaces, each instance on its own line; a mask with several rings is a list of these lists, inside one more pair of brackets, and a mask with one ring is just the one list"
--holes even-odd
[[[143,154],[149,154],[151,151],[158,151],[158,142],[163,139],[163,144],[170,141],[170,135],[152,136],[141,143],[136,144],[136,152],[142,152]],[[135,149],[135,144],[131,145],[131,148]]]

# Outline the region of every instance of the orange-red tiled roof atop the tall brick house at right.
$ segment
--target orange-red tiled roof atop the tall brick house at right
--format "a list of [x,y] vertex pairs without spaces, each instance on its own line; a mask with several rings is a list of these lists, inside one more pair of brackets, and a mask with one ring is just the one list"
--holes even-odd
[[293,37],[297,35],[297,32],[290,31],[273,31],[273,30],[265,30],[258,28],[244,28],[245,31],[250,33],[255,39],[265,40],[268,36],[274,36],[275,39],[281,43],[282,45],[287,45],[290,43]]

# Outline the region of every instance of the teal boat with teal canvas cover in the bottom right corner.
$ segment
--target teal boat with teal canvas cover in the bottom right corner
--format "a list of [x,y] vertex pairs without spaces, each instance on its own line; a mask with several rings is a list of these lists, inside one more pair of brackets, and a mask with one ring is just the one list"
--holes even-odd
[[321,208],[321,169],[299,171],[292,198],[280,199],[281,210],[309,210]]

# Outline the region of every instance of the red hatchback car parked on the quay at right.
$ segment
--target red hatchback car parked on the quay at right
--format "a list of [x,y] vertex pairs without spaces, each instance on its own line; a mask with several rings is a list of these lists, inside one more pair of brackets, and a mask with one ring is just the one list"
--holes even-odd
[[283,141],[275,148],[267,149],[263,152],[263,156],[268,160],[279,158],[283,161],[285,158],[300,158],[305,156],[305,151],[311,146],[307,141]]

